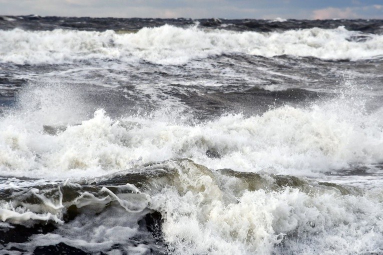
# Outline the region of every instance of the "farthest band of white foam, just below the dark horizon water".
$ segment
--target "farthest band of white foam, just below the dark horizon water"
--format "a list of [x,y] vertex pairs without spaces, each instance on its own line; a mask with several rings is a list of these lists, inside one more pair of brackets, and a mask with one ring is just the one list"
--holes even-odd
[[383,55],[383,35],[369,34],[365,41],[359,42],[349,40],[359,34],[343,27],[260,33],[164,25],[125,34],[111,30],[14,29],[0,31],[0,61],[39,64],[87,59],[144,59],[180,64],[193,58],[231,52],[351,60]]

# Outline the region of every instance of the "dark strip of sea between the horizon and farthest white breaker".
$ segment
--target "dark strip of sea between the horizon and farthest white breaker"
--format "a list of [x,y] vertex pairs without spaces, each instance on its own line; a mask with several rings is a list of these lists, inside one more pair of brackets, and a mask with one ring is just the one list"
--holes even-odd
[[237,31],[286,31],[319,27],[333,29],[344,26],[347,30],[366,33],[381,33],[383,21],[379,19],[331,19],[331,20],[297,20],[297,19],[191,19],[191,18],[91,18],[59,16],[0,16],[0,28],[12,29],[22,27],[31,30],[52,30],[57,28],[105,31],[137,31],[143,27],[158,27],[171,24],[187,27],[198,23],[200,27]]

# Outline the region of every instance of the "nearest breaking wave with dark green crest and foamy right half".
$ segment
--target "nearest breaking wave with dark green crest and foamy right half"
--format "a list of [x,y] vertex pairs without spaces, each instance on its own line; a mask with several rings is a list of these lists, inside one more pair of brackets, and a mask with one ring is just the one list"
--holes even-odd
[[0,206],[8,209],[0,209],[0,218],[16,216],[0,225],[6,236],[15,225],[54,225],[39,234],[21,232],[28,237],[23,243],[0,242],[31,253],[64,244],[90,253],[381,252],[380,189],[211,171],[180,159],[73,183],[21,188],[14,180],[7,190]]

